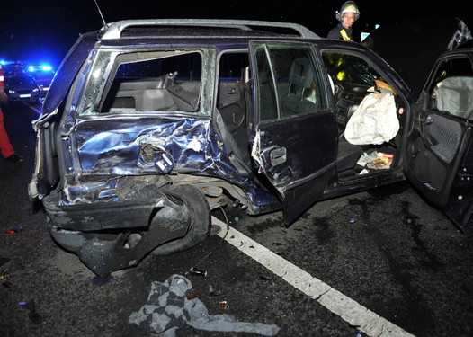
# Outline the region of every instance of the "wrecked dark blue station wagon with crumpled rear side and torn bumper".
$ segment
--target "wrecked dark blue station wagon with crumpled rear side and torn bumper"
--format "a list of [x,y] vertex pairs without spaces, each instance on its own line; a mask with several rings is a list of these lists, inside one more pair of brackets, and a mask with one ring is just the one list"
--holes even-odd
[[[388,120],[353,141],[371,95]],[[282,209],[290,224],[316,200],[405,179],[425,151],[407,146],[414,102],[369,49],[298,24],[114,22],[59,67],[29,192],[55,241],[105,276],[201,243],[215,208]]]

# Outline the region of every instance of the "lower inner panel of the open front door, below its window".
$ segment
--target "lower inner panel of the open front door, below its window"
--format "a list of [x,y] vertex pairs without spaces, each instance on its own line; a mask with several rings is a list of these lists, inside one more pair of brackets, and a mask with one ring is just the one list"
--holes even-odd
[[473,201],[471,126],[430,110],[416,124],[409,137],[406,175],[428,200],[464,228]]

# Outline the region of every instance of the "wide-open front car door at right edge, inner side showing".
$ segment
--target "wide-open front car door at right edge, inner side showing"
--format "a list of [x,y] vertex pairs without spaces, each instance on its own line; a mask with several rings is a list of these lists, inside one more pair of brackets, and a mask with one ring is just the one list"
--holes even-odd
[[473,67],[459,51],[440,58],[415,107],[406,176],[464,230],[473,211]]

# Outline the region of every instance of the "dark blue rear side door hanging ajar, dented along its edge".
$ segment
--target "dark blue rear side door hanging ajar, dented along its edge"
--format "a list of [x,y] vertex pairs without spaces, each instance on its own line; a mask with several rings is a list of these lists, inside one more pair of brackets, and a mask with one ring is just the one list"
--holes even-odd
[[290,224],[323,193],[335,169],[337,127],[327,76],[307,43],[251,44],[256,120],[252,156]]

